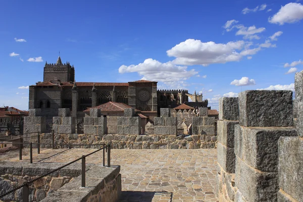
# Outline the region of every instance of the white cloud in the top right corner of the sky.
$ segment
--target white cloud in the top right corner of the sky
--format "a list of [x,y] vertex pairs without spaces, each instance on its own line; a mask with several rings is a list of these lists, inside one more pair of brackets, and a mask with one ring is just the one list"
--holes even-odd
[[268,22],[283,25],[284,23],[295,23],[303,19],[303,6],[299,3],[289,3],[268,18]]

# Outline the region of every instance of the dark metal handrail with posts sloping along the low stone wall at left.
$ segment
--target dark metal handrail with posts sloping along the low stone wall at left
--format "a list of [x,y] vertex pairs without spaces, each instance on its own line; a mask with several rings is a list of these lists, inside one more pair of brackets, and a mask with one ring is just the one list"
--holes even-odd
[[[94,145],[96,145],[96,144],[94,144]],[[6,195],[8,195],[8,194],[10,194],[10,193],[12,193],[12,192],[14,192],[14,191],[23,187],[22,199],[23,199],[24,202],[28,202],[29,201],[29,199],[28,199],[29,198],[29,184],[33,183],[34,181],[36,181],[36,180],[38,180],[42,177],[48,176],[48,175],[50,175],[50,174],[52,174],[52,173],[54,173],[54,172],[56,172],[56,171],[58,171],[62,168],[65,168],[65,167],[67,167],[67,166],[69,166],[69,165],[71,165],[71,164],[73,164],[73,163],[75,163],[79,160],[81,160],[81,187],[85,187],[85,169],[86,169],[85,158],[86,157],[88,157],[88,156],[90,156],[90,155],[92,155],[92,154],[94,154],[94,153],[96,153],[100,150],[103,150],[103,166],[105,166],[105,153],[107,153],[107,167],[111,167],[111,145],[110,144],[109,145],[97,144],[97,145],[100,145],[100,146],[102,145],[103,147],[99,148],[99,149],[97,149],[97,150],[95,150],[95,151],[93,151],[93,152],[91,152],[87,155],[83,155],[82,157],[80,157],[80,158],[78,158],[78,159],[76,159],[76,160],[74,160],[74,161],[72,161],[68,164],[65,164],[64,166],[61,166],[61,167],[59,167],[59,168],[57,168],[57,169],[55,169],[51,172],[45,173],[44,175],[41,175],[41,176],[36,177],[32,180],[24,182],[22,185],[14,188],[12,190],[9,190],[9,191],[5,192],[4,194],[1,194],[0,199],[2,197],[4,197],[4,196],[6,196]],[[20,160],[22,160],[22,152],[21,152]],[[32,163],[32,143],[30,143],[30,163]]]

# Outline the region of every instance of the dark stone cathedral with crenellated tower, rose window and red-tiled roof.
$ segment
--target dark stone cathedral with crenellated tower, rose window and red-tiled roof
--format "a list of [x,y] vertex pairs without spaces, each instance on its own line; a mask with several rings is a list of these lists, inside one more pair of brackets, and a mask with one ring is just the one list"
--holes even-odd
[[160,108],[175,108],[181,104],[207,107],[208,100],[202,100],[202,97],[189,94],[187,90],[158,90],[156,81],[76,82],[74,66],[69,62],[62,63],[59,56],[57,63],[45,63],[43,81],[29,87],[29,109],[40,108],[41,116],[51,120],[58,116],[59,108],[69,108],[72,116],[81,118],[85,116],[84,110],[113,102],[155,117]]

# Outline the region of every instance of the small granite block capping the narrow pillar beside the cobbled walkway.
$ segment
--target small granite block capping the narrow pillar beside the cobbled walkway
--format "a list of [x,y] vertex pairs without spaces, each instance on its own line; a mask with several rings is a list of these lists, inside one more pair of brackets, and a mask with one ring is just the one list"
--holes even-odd
[[239,120],[238,97],[221,97],[219,99],[219,120]]

